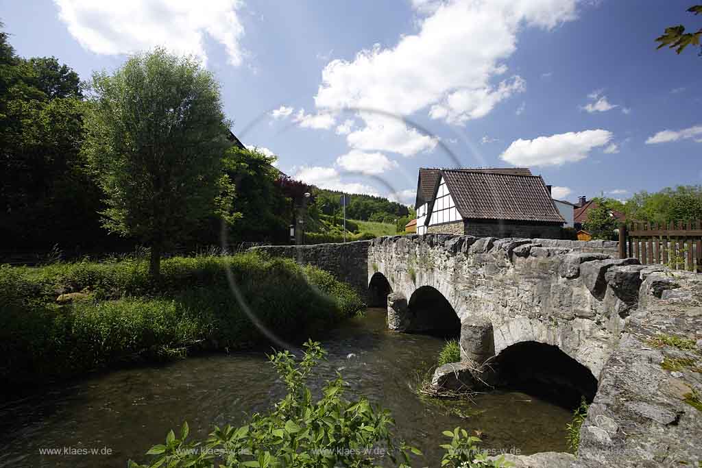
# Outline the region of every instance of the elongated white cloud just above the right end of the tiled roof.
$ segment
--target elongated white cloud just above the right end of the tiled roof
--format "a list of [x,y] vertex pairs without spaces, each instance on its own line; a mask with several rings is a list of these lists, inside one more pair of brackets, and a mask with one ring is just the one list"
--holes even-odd
[[534,140],[515,140],[500,155],[514,166],[561,166],[588,157],[592,148],[607,145],[614,135],[606,130],[560,133]]

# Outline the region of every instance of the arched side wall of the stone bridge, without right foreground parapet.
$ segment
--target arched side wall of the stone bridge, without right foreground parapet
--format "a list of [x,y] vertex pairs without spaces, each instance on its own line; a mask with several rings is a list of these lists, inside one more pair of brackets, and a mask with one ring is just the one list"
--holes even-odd
[[[432,332],[483,324],[494,338],[482,350],[485,357],[540,342],[559,347],[595,377],[635,307],[642,268],[634,259],[611,258],[616,242],[609,241],[427,234],[256,250],[327,269],[371,306],[385,307],[390,295],[390,328]],[[432,298],[445,298],[457,320],[435,307],[419,310]]]

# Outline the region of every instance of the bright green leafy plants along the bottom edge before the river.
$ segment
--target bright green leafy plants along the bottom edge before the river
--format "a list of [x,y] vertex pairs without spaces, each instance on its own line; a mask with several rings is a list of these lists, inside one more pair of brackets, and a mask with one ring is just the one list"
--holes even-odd
[[[180,436],[171,431],[166,443],[153,446],[150,464],[130,460],[130,468],[168,467],[380,467],[385,460],[399,467],[410,466],[410,454],[420,450],[397,440],[395,422],[390,411],[374,408],[364,397],[357,401],[344,398],[346,383],[340,374],[326,382],[322,398],[313,401],[306,381],[324,358],[319,343],[305,343],[300,361],[287,351],[270,356],[287,396],[266,413],[255,413],[241,427],[215,427],[204,441],[188,441],[187,422]],[[488,468],[508,467],[501,458],[487,460],[475,436],[456,428],[444,435],[451,439],[442,446],[446,450],[442,467]]]

